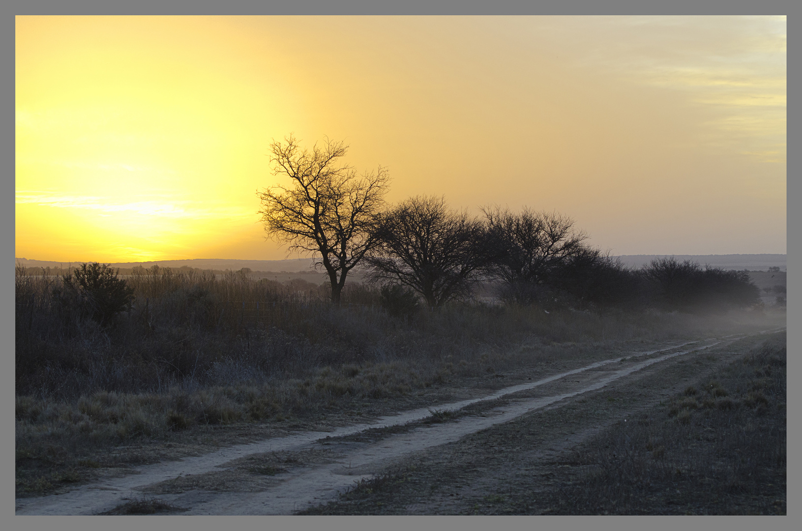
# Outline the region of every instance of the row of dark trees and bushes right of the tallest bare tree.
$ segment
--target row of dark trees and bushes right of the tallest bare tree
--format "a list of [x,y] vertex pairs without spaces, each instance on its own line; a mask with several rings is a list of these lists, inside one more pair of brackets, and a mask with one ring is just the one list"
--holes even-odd
[[721,312],[759,302],[745,271],[673,257],[631,269],[587,245],[569,217],[526,208],[483,212],[484,219],[471,217],[437,197],[404,201],[375,229],[367,278],[387,286],[385,298],[400,304],[414,294],[427,306],[468,300],[479,282],[519,306]]

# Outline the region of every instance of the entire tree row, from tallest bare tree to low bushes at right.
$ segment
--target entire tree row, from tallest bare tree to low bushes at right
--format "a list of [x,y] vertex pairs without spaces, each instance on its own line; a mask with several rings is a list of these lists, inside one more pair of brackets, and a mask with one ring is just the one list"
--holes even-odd
[[290,184],[257,192],[265,233],[313,254],[334,303],[357,268],[382,286],[390,306],[466,301],[482,283],[498,286],[504,304],[519,306],[725,311],[759,300],[743,271],[673,258],[630,270],[587,245],[573,220],[557,213],[486,206],[476,217],[435,196],[389,205],[387,168],[360,176],[339,161],[348,149],[342,141],[309,149],[290,135],[270,148],[273,173]]

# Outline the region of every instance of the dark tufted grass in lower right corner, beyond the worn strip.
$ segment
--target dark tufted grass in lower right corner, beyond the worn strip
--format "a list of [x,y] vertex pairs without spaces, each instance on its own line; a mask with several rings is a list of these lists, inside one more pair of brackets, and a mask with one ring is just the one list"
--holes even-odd
[[553,514],[785,514],[784,334],[577,450]]

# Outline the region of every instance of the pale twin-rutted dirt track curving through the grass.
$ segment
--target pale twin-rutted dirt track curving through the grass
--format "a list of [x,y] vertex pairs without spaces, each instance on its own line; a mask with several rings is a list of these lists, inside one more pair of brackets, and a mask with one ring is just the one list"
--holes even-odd
[[[626,385],[634,386],[638,379],[665,372],[663,367],[671,359],[700,358],[711,349],[719,351],[743,337],[683,343],[630,355],[628,359],[591,363],[532,383],[506,387],[482,398],[441,404],[434,415],[428,408],[416,409],[331,432],[302,432],[224,448],[204,456],[147,465],[137,468],[136,474],[101,480],[71,492],[19,499],[16,513],[98,514],[143,497],[158,497],[185,509],[181,513],[186,514],[295,513],[334,501],[355,480],[372,477],[421,452],[448,447],[466,436],[533,411],[557,405],[561,409],[577,407],[577,395],[593,394],[603,387],[613,387],[614,383],[628,382]],[[433,422],[449,419],[439,424]],[[581,424],[567,440],[553,441],[537,452],[561,452],[565,444],[588,436],[603,422],[589,419]],[[541,435],[548,435],[548,431],[544,429]],[[486,476],[481,472],[470,473]],[[475,488],[489,488],[487,479],[473,481]],[[456,510],[443,501],[439,505],[432,503],[431,500],[405,502],[399,511]]]

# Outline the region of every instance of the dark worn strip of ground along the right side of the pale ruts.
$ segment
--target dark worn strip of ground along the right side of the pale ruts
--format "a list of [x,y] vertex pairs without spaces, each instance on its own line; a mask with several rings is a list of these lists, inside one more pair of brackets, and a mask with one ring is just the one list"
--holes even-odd
[[[765,337],[765,336],[763,336]],[[309,514],[541,514],[581,481],[575,448],[754,351],[764,338],[691,352],[630,373],[595,393],[553,403],[385,468],[378,480]],[[373,492],[371,492],[371,490]]]

